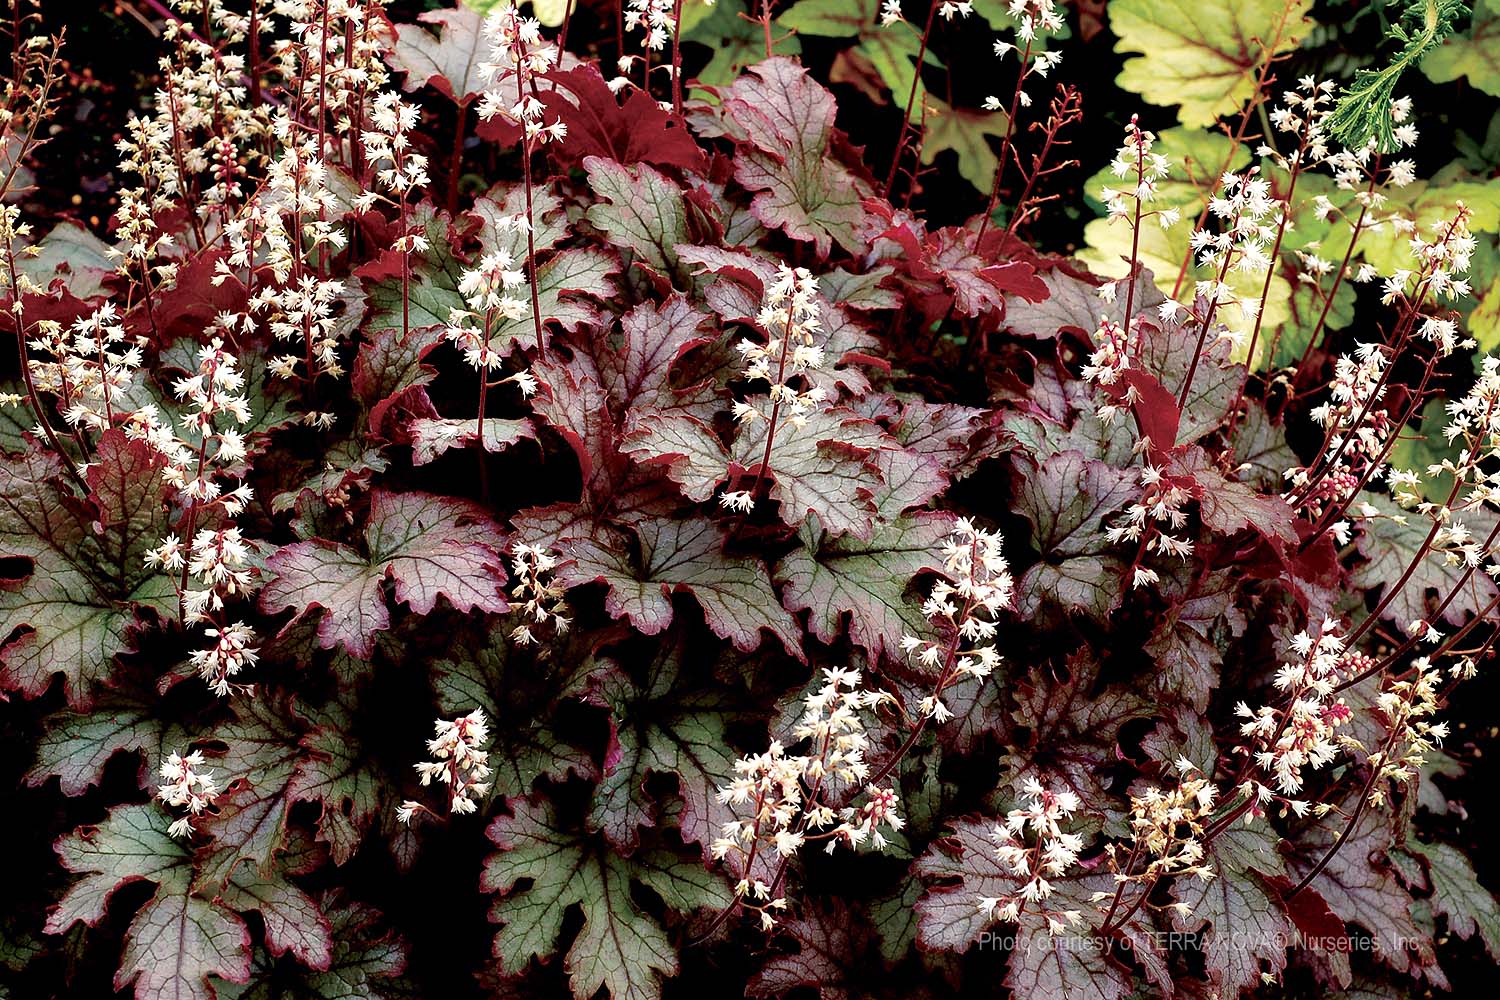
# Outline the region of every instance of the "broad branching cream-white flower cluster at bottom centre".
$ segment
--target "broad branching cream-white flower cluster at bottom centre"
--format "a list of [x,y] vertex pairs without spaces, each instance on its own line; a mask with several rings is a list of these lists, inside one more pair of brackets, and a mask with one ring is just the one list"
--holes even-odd
[[[808,693],[792,730],[794,745],[806,753],[789,754],[782,741],[772,741],[764,754],[736,760],[735,778],[718,789],[718,801],[742,813],[724,823],[711,852],[717,859],[734,859],[742,873],[735,898],[758,912],[766,930],[776,925],[772,912],[783,910],[786,898],[777,895],[777,877],[766,882],[756,876],[758,859],[776,855],[784,864],[808,843],[824,843],[828,853],[866,843],[880,850],[886,844],[882,828],[900,831],[904,825],[896,790],[866,784],[870,739],[860,714],[890,700],[890,694],[862,690],[858,670],[825,669],[824,684]],[[852,798],[842,795],[848,790],[862,790],[866,804],[837,805],[836,796]]]

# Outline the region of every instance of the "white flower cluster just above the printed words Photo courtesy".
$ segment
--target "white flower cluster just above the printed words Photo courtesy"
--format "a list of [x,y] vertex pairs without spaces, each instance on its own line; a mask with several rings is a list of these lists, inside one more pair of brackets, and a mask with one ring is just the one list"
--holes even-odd
[[1047,921],[1050,933],[1062,934],[1083,919],[1080,910],[1052,910],[1047,906],[1053,880],[1065,876],[1083,850],[1083,838],[1062,829],[1062,823],[1078,811],[1078,796],[1066,790],[1052,792],[1035,777],[1028,777],[1018,792],[1023,802],[990,831],[990,840],[1000,865],[1022,886],[1002,897],[984,897],[976,906],[986,919],[1008,924],[1020,919],[1022,913],[1035,912]]

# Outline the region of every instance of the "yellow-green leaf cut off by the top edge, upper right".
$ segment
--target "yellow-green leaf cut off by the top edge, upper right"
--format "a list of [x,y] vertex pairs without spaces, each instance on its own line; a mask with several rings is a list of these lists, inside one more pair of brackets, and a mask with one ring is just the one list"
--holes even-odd
[[1116,0],[1110,28],[1125,60],[1116,82],[1178,120],[1214,124],[1256,91],[1260,66],[1296,48],[1312,0]]

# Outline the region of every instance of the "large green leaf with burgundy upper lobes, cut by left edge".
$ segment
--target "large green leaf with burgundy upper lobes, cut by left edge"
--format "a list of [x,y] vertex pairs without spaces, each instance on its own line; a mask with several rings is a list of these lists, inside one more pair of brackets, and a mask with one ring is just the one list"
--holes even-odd
[[172,582],[142,561],[166,534],[164,465],[144,441],[110,430],[84,504],[50,453],[0,457],[0,558],[10,577],[0,586],[0,690],[38,697],[62,675],[69,705],[87,708],[129,648],[135,609],[176,615]]

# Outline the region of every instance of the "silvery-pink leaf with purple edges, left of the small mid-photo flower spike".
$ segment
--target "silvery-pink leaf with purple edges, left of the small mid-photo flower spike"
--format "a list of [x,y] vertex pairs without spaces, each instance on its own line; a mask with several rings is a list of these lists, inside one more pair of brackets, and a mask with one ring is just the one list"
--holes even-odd
[[318,639],[369,657],[375,633],[390,628],[381,592],[393,583],[396,601],[428,615],[438,597],[460,612],[506,612],[506,571],[496,546],[500,526],[477,504],[429,493],[370,493],[364,552],[316,538],[284,546],[267,559],[272,580],[261,591],[270,613],[321,610]]

